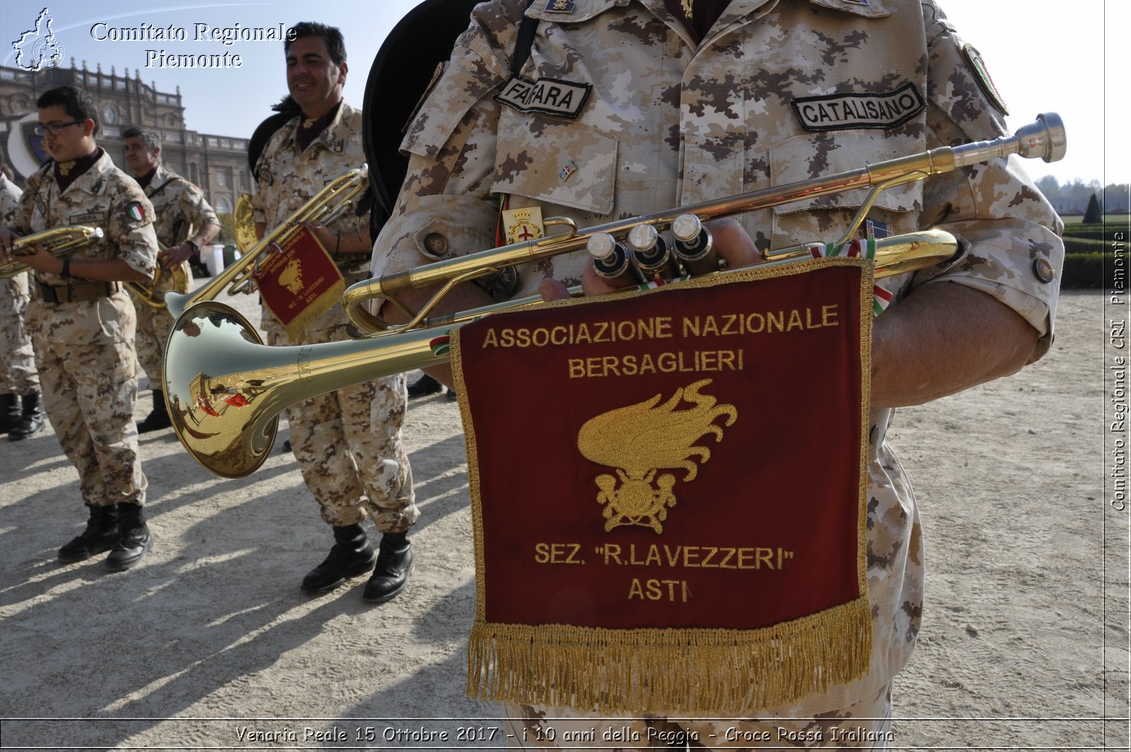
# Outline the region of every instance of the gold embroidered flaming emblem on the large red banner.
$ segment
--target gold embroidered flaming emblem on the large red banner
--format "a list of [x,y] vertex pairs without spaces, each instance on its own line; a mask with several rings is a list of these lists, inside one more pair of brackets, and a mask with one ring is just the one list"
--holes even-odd
[[[577,434],[581,454],[616,469],[615,477],[601,473],[595,479],[597,503],[605,507],[605,532],[620,525],[664,531],[667,509],[675,506],[672,489],[676,478],[668,472],[657,473],[661,469],[682,469],[687,471],[684,482],[694,480],[699,475],[696,461],[703,464],[710,459],[710,448],[697,442],[708,434],[715,443],[722,442],[723,428],[734,425],[739,417],[733,404],[716,405],[715,398],[699,392],[710,383],[705,378],[677,388],[664,404],[657,405],[662,398],[657,394],[590,418],[581,426]],[[676,410],[684,401],[693,407]],[[726,420],[715,424],[720,416]]]

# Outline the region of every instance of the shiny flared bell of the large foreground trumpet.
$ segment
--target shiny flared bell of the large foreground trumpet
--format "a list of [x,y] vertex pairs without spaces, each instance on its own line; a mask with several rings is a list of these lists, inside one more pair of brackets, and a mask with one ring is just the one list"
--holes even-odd
[[233,375],[233,360],[256,347],[271,350],[243,316],[210,300],[185,310],[169,335],[162,381],[173,429],[197,462],[223,478],[243,478],[264,463],[287,407],[262,417],[276,402],[264,390],[269,367]]

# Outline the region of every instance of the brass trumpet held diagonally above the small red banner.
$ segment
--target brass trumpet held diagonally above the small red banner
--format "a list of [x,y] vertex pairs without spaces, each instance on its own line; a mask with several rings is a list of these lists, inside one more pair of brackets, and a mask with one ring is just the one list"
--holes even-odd
[[253,288],[252,276],[257,262],[265,254],[282,246],[295,232],[295,225],[320,222],[326,224],[342,216],[369,187],[369,169],[362,165],[327,183],[309,202],[300,206],[282,224],[264,236],[264,239],[248,249],[234,264],[214,276],[189,294],[169,292],[165,305],[173,316],[180,316],[189,306],[202,300],[215,300],[227,288],[228,294],[248,293]]

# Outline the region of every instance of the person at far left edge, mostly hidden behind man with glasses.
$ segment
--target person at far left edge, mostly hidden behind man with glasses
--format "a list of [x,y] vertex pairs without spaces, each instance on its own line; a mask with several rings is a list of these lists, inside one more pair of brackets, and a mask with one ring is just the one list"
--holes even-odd
[[[0,227],[12,223],[20,194],[11,168],[0,164]],[[40,374],[24,321],[28,296],[26,273],[0,279],[0,434],[14,442],[40,433],[44,421]]]

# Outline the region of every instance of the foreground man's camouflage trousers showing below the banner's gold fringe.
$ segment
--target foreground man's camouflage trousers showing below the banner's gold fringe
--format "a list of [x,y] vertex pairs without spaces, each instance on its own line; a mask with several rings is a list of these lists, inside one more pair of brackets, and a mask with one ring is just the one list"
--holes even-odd
[[804,718],[598,718],[513,704],[503,713],[507,745],[520,750],[886,750],[892,741],[890,682],[847,708]]

